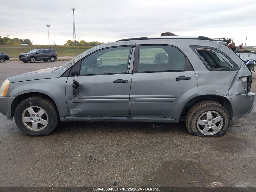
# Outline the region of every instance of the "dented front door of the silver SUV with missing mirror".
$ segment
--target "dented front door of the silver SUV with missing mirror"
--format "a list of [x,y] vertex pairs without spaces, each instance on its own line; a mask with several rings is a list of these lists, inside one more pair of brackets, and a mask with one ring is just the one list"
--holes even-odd
[[[101,49],[73,66],[79,73],[76,77],[71,74],[66,83],[72,116],[129,116],[131,50],[131,46]],[[75,95],[74,79],[79,83]]]

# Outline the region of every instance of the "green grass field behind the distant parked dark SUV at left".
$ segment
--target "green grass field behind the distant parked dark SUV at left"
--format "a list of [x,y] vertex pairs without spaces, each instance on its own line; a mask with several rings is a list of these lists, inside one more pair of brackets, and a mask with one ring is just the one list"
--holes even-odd
[[[36,48],[51,48],[55,49],[57,52],[58,57],[75,57],[78,56],[80,53],[85,52],[86,50],[90,49],[92,46],[64,46],[64,45],[56,45],[54,46],[8,46],[0,45],[0,52],[8,53],[9,57],[19,57],[20,53],[26,53]],[[7,50],[8,49],[8,50]]]

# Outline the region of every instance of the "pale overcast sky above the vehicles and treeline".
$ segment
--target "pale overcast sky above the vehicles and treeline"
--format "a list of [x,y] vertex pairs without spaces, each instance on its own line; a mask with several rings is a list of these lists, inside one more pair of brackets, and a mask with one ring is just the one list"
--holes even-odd
[[64,45],[73,40],[114,42],[133,37],[180,36],[234,38],[256,46],[255,0],[1,0],[0,36],[33,44]]

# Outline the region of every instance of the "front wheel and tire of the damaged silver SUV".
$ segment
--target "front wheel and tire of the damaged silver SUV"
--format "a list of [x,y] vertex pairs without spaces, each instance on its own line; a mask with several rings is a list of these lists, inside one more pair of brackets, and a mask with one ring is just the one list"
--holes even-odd
[[18,128],[32,136],[48,135],[59,122],[55,104],[41,96],[30,97],[19,103],[15,109],[14,118]]

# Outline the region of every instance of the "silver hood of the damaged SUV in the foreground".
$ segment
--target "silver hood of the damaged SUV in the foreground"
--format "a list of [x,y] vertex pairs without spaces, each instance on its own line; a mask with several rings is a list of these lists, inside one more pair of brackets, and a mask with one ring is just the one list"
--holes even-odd
[[35,79],[48,79],[52,75],[53,71],[58,68],[59,67],[40,69],[37,71],[15,75],[15,76],[9,77],[8,79],[10,80],[11,83],[20,82],[20,81],[30,81]]

